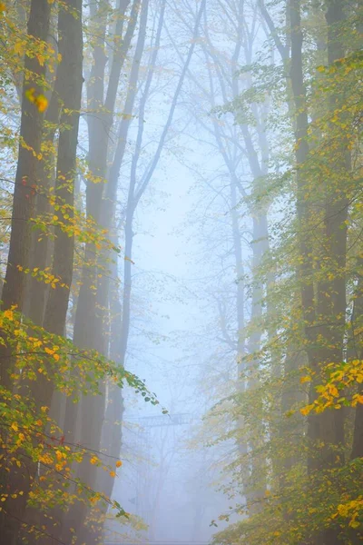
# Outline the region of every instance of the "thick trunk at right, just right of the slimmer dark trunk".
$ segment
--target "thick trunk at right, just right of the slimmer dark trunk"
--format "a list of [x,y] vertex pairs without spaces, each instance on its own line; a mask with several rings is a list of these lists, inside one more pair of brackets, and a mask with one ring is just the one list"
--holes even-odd
[[[339,25],[344,21],[343,3],[340,0],[329,0],[326,19],[328,23],[328,62],[333,64],[344,56],[344,47],[339,36]],[[331,114],[339,107],[337,94],[329,97]],[[325,203],[325,252],[330,274],[333,280],[321,282],[319,286],[319,317],[328,326],[322,329],[325,346],[322,361],[339,363],[343,361],[344,336],[346,325],[346,262],[347,262],[347,218],[348,187],[350,173],[350,153],[348,142],[343,137],[338,149],[334,149],[330,157],[330,179],[327,183]],[[320,439],[325,443],[340,447],[332,449],[327,463],[334,465],[337,459],[343,460],[344,447],[344,411],[325,411],[321,415],[322,425]],[[330,432],[329,432],[330,429]]]

